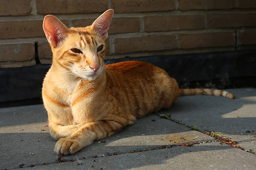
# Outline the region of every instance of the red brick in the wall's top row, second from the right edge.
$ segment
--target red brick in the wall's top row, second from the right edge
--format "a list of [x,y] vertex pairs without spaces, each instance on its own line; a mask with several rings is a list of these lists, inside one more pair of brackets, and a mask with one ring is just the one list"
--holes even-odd
[[234,0],[179,0],[179,10],[214,10],[235,7]]

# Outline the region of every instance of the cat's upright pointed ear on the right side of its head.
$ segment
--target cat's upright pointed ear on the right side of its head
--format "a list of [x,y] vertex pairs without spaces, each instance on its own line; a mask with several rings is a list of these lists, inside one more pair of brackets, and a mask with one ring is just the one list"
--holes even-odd
[[93,23],[92,28],[97,34],[105,41],[108,37],[108,28],[110,26],[114,10],[106,10],[105,13],[100,15]]

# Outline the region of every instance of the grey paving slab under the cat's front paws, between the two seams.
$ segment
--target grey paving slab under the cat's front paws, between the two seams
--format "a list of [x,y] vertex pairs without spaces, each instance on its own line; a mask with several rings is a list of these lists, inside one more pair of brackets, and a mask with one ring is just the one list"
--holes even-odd
[[[56,141],[50,137],[46,125],[47,113],[42,105],[0,109],[0,138],[4,139],[0,140],[0,169],[19,168],[23,164],[26,167],[31,164],[56,163],[58,156],[53,152]],[[199,137],[195,140],[180,139],[197,136]],[[136,120],[134,125],[102,139],[104,143],[96,141],[64,159],[92,158],[153,149],[161,145],[202,143],[210,140],[214,138],[150,114]]]

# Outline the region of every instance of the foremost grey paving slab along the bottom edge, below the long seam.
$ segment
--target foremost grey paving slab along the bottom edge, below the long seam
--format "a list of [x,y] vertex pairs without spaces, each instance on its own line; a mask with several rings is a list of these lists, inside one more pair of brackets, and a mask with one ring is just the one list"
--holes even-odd
[[137,153],[125,153],[74,162],[35,165],[25,170],[254,170],[255,156],[218,142]]

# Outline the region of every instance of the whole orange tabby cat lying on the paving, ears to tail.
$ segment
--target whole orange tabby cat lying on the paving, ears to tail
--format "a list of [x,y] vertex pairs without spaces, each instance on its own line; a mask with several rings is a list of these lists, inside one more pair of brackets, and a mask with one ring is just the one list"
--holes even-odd
[[146,62],[104,65],[112,17],[113,10],[107,10],[92,25],[70,29],[53,15],[44,18],[53,59],[42,95],[58,154],[74,154],[136,117],[170,107],[179,95],[233,98],[222,90],[179,89],[175,79]]

